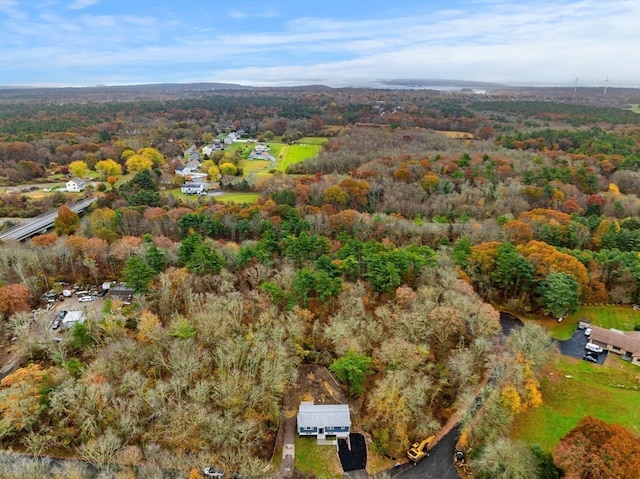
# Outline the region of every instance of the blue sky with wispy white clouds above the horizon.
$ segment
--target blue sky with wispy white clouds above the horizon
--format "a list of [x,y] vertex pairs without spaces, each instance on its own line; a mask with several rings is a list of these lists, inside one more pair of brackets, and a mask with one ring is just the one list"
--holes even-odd
[[640,0],[0,0],[0,85],[640,88]]

